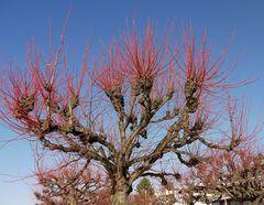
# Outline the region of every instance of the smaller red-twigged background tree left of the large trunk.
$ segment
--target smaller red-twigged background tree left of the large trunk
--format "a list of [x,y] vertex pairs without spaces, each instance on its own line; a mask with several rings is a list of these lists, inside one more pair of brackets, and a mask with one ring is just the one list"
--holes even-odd
[[74,160],[44,169],[37,163],[37,205],[109,204],[109,183],[98,168]]

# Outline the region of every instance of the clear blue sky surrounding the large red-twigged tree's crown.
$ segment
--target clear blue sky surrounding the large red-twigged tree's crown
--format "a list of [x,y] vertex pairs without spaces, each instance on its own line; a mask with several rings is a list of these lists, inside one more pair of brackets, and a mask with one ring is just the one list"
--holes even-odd
[[[101,41],[121,34],[134,17],[138,24],[147,19],[163,28],[167,20],[177,23],[191,21],[198,30],[208,29],[209,39],[217,50],[224,47],[233,36],[232,56],[243,53],[234,72],[238,78],[260,77],[255,83],[235,91],[251,107],[251,120],[264,109],[264,1],[263,0],[0,0],[0,65],[10,60],[23,62],[26,42],[35,36],[38,47],[47,47],[48,22],[53,39],[58,34],[68,10],[73,8],[66,42],[69,53],[78,60],[89,39],[92,50]],[[231,57],[232,60],[232,57]],[[14,133],[0,127],[1,138]],[[25,176],[33,170],[33,159],[28,142],[13,142],[0,150],[0,204],[33,205],[31,181],[9,175]]]

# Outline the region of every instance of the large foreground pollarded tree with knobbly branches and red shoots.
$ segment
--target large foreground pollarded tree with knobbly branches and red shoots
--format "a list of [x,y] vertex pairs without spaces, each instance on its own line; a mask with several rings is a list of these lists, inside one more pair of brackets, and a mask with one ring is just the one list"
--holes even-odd
[[[127,204],[135,180],[180,176],[164,162],[190,168],[204,160],[198,144],[232,150],[243,138],[223,97],[227,52],[213,57],[206,35],[199,45],[191,29],[184,33],[182,47],[150,23],[143,37],[133,28],[92,68],[86,52],[78,72],[69,69],[63,35],[46,61],[33,46],[24,73],[10,67],[2,75],[1,119],[47,150],[100,163],[112,204]],[[232,129],[213,137],[222,120]]]

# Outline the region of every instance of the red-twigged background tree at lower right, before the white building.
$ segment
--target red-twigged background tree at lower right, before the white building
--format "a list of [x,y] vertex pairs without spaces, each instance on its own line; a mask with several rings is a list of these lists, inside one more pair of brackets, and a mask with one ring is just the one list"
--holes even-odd
[[229,196],[258,204],[264,197],[264,160],[251,149],[215,154],[193,170],[184,191],[190,201],[210,202]]

